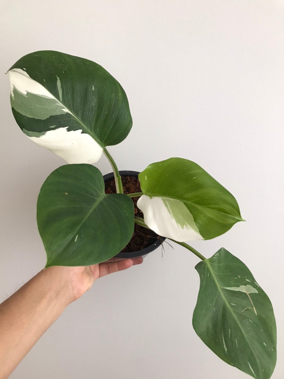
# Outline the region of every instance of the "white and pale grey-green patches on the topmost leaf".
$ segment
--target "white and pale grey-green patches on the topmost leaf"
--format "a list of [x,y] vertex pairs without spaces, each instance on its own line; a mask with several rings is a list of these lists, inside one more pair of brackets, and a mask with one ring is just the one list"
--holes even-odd
[[[26,117],[47,119],[64,113],[72,113],[66,109],[40,83],[31,79],[22,69],[9,71],[11,83],[11,103],[14,109]],[[30,94],[35,96],[29,97]],[[15,101],[17,96],[17,101]],[[56,129],[51,125],[47,132],[23,132],[31,141],[52,151],[67,163],[95,163],[103,152],[103,148],[82,129],[67,130],[67,127]]]

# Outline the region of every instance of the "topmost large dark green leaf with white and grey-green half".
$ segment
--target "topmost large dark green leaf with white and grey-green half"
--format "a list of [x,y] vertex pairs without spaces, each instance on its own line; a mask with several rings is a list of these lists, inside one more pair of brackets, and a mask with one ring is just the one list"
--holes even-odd
[[17,124],[68,163],[95,163],[130,132],[126,94],[95,62],[46,50],[23,56],[8,72]]

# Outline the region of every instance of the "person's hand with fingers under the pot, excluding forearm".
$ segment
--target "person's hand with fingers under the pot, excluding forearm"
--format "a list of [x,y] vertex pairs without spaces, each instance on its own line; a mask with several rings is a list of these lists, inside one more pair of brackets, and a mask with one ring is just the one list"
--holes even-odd
[[53,271],[53,274],[56,276],[65,277],[68,280],[70,284],[70,302],[72,302],[89,290],[98,278],[125,270],[134,265],[139,265],[142,262],[142,257],[131,259],[114,257],[97,265],[77,267],[52,266],[44,271]]

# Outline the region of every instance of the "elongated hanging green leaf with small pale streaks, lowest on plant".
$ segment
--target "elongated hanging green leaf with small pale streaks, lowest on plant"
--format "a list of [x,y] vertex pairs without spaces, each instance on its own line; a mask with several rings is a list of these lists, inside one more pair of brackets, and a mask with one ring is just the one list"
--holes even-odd
[[247,266],[224,248],[195,267],[200,290],[192,324],[229,365],[257,379],[272,376],[276,324],[272,304]]

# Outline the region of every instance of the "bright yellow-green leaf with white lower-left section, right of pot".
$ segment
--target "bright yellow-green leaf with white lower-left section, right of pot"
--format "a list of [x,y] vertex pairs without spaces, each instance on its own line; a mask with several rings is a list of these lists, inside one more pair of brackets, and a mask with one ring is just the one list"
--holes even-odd
[[158,235],[180,242],[209,240],[243,221],[234,196],[187,159],[152,163],[139,180],[143,195],[137,206]]

